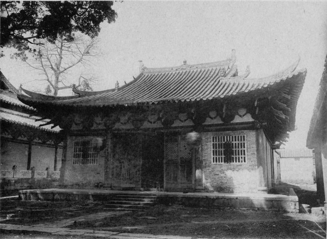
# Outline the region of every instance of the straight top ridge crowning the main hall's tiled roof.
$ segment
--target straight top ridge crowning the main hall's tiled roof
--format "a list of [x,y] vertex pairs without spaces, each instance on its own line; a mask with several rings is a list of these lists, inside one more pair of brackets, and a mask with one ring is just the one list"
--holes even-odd
[[236,56],[232,56],[223,61],[216,61],[216,62],[209,62],[209,63],[200,63],[200,64],[183,64],[180,66],[173,66],[173,67],[159,67],[159,68],[147,68],[143,67],[143,73],[160,73],[160,72],[168,72],[168,71],[176,71],[176,70],[194,70],[194,69],[201,69],[201,68],[211,68],[211,67],[222,67],[222,66],[229,66],[231,68],[236,62]]

